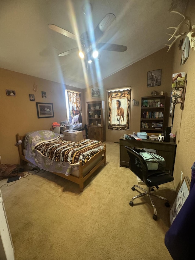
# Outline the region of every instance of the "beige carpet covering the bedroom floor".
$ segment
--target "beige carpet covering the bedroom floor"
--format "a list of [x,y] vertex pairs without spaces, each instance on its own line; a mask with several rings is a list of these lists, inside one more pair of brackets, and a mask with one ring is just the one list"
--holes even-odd
[[[154,198],[154,221],[148,197],[129,206],[138,194],[131,190],[137,177],[119,167],[119,144],[106,146],[107,165],[85,182],[82,193],[78,184],[48,172],[10,187],[1,187],[7,179],[0,181],[16,260],[172,259],[164,244],[169,208]],[[170,203],[176,197],[173,183],[155,192]]]

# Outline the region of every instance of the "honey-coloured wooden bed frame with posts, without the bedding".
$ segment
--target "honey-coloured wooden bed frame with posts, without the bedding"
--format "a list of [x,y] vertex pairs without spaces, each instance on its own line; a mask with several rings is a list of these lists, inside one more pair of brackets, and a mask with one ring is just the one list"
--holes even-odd
[[[25,162],[29,162],[25,158],[25,156],[23,155],[25,135],[22,136],[22,135],[19,135],[19,133],[16,134],[16,141],[17,141],[17,143],[18,143],[19,140],[22,140],[22,144],[18,144],[18,151],[19,151],[19,157],[20,157],[20,164],[23,165],[24,161]],[[97,165],[95,165],[87,174],[85,174],[83,176],[84,169],[87,166],[89,166],[91,163],[93,163],[100,156],[101,156],[101,161],[98,162]],[[96,155],[94,155],[89,161],[86,162],[85,165],[82,166],[82,161],[80,160],[80,162],[79,162],[79,177],[71,175],[71,174],[66,176],[63,173],[55,173],[55,172],[51,172],[51,173],[54,173],[54,174],[56,174],[58,176],[61,176],[61,177],[65,178],[65,179],[67,179],[67,180],[70,180],[70,181],[73,181],[73,182],[79,184],[80,191],[82,192],[83,191],[83,186],[84,186],[84,181],[86,181],[91,176],[91,174],[94,173],[94,171],[99,168],[99,166],[101,164],[104,164],[104,166],[106,166],[106,144],[104,144],[104,149],[99,151]]]

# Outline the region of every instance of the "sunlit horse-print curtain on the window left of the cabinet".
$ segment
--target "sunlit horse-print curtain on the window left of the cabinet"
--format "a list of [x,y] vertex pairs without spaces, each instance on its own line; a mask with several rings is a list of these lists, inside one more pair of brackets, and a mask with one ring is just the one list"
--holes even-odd
[[82,127],[81,98],[79,92],[68,91],[69,119],[68,123],[74,128]]

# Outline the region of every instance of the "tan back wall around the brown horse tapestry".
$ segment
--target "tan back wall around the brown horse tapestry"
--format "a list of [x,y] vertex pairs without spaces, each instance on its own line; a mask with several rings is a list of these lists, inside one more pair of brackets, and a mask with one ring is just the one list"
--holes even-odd
[[[123,134],[130,134],[140,131],[140,114],[141,114],[141,97],[151,96],[153,90],[160,93],[164,90],[170,98],[170,83],[172,80],[172,66],[174,49],[166,52],[167,48],[163,48],[158,52],[134,63],[125,69],[107,77],[103,80],[104,98],[106,106],[106,141],[119,142],[119,138]],[[116,61],[117,62],[117,61]],[[161,86],[147,87],[147,72],[150,70],[162,69]],[[93,87],[98,86],[97,84]],[[107,109],[107,91],[112,88],[122,88],[131,86],[131,110],[130,110],[130,130],[108,130],[108,109]],[[91,101],[90,89],[86,89],[85,101]],[[139,101],[139,106],[133,106],[132,99]],[[86,110],[87,111],[87,110]]]

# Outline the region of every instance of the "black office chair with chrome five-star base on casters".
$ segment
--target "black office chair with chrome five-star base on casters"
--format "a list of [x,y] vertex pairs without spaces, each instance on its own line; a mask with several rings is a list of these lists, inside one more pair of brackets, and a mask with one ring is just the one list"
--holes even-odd
[[129,205],[133,207],[133,201],[135,199],[140,198],[145,195],[148,196],[150,198],[152,207],[154,209],[153,219],[157,220],[157,211],[156,211],[156,208],[155,208],[155,205],[154,205],[154,202],[153,202],[151,196],[165,200],[166,207],[170,207],[170,204],[166,198],[156,195],[154,193],[151,193],[151,191],[154,191],[154,187],[156,187],[158,189],[158,185],[160,185],[160,184],[173,181],[174,178],[173,178],[173,176],[170,175],[170,171],[168,171],[168,170],[164,170],[164,171],[148,170],[147,164],[146,164],[144,158],[138,153],[138,151],[141,151],[141,150],[138,150],[138,149],[133,150],[133,149],[129,148],[128,146],[125,146],[125,148],[129,155],[129,169],[133,173],[135,173],[135,175],[137,175],[147,186],[146,190],[138,185],[134,185],[131,188],[132,191],[135,191],[135,187],[137,187],[140,190],[144,191],[144,193],[141,193],[141,194],[133,197],[131,199],[131,201],[129,202]]

